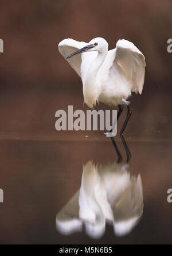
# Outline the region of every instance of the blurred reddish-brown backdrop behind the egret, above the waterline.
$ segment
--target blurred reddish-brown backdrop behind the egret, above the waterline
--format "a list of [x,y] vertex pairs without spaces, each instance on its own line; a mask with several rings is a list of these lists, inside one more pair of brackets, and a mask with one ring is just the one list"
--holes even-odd
[[81,80],[57,45],[68,37],[89,42],[97,36],[104,37],[110,49],[119,39],[131,40],[146,57],[143,95],[133,95],[131,105],[140,122],[135,125],[133,118],[128,129],[166,129],[163,123],[171,115],[171,10],[170,0],[2,0],[0,131],[54,133],[56,110],[73,103],[83,109]]

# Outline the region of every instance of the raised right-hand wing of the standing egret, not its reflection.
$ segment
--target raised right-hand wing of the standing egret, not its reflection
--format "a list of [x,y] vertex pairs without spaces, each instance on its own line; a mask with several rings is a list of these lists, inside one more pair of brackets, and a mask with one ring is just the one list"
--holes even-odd
[[133,43],[119,40],[116,48],[108,51],[102,66],[107,69],[108,76],[129,85],[132,92],[142,93],[146,63]]

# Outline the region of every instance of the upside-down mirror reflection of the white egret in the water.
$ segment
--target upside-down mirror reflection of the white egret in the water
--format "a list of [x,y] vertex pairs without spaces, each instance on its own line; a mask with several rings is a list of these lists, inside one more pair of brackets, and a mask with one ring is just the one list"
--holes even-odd
[[127,171],[131,159],[130,150],[121,137],[127,153],[126,163],[114,144],[118,161],[96,165],[93,161],[83,165],[80,190],[56,216],[56,226],[62,234],[81,231],[92,238],[100,238],[105,232],[105,222],[114,227],[115,235],[131,232],[143,213],[143,190],[140,175],[131,176]]

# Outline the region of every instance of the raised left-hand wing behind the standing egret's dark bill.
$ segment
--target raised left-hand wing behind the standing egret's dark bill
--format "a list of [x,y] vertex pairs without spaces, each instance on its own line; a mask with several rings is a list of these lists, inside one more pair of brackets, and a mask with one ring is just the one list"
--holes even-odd
[[73,39],[64,39],[58,44],[58,50],[61,55],[69,62],[71,67],[76,71],[76,73],[81,77],[81,54],[75,55],[70,59],[67,57],[73,52],[87,46],[88,43],[78,42]]

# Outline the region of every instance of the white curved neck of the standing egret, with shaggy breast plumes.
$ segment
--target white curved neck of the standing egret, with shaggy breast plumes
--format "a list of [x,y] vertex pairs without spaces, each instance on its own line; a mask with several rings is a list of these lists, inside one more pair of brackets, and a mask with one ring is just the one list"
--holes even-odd
[[106,48],[98,51],[97,57],[93,60],[87,72],[87,77],[83,85],[83,95],[84,103],[86,103],[89,108],[94,107],[101,93],[100,85],[97,82],[97,73],[103,64],[107,53],[108,49]]

